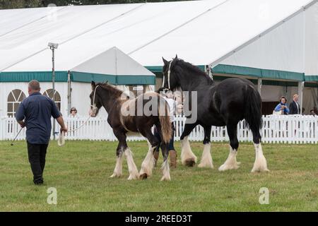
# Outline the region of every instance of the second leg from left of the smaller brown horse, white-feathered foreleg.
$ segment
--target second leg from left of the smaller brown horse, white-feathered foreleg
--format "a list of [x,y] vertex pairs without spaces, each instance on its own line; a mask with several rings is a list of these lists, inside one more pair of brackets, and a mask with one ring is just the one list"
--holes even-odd
[[128,165],[129,170],[129,177],[128,179],[139,179],[139,173],[138,169],[136,167],[136,164],[134,162],[133,155],[131,153],[131,150],[129,149],[127,143],[126,143],[126,134],[120,131],[114,131],[114,135],[119,140],[119,147],[122,148],[122,151],[124,152],[124,155],[126,156],[126,161]]

